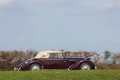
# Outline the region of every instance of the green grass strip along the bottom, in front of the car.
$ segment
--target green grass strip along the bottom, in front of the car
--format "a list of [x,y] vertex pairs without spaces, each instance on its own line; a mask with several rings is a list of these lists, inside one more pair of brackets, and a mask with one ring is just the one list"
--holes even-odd
[[0,80],[120,80],[120,70],[0,71]]

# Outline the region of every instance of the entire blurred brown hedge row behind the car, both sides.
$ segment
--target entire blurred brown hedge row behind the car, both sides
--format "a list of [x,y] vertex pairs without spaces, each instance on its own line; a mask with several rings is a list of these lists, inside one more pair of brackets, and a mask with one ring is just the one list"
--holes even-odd
[[[89,51],[64,51],[65,57],[90,57],[95,63],[97,69],[120,69],[120,53],[111,53],[104,51],[104,53],[89,52]],[[21,62],[34,58],[38,51],[0,51],[0,70],[13,70],[14,67]]]

